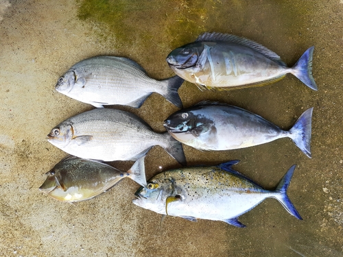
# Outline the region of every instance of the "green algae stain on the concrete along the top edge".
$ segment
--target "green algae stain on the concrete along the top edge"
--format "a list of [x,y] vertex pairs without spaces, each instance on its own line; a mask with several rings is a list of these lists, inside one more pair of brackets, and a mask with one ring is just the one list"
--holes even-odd
[[[212,8],[201,1],[82,0],[78,18],[92,23],[100,40],[111,40],[117,47],[139,43],[149,47],[152,40],[176,47],[180,40],[193,40],[206,30]],[[219,3],[219,2],[218,2]]]

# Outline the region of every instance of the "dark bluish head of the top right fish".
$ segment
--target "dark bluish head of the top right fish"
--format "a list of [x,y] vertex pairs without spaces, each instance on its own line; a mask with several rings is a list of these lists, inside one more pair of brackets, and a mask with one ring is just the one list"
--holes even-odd
[[169,53],[166,60],[169,66],[176,69],[187,69],[196,66],[199,53],[202,52],[203,47],[198,43],[191,43],[182,47],[176,48]]

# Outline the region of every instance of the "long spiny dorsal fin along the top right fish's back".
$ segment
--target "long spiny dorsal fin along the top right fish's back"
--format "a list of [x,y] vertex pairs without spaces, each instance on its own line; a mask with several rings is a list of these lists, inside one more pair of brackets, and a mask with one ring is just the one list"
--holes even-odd
[[197,41],[210,41],[210,42],[233,42],[235,44],[244,45],[245,47],[249,47],[251,49],[254,49],[255,51],[258,51],[259,53],[263,54],[263,56],[270,58],[274,62],[277,62],[280,65],[287,66],[285,62],[283,62],[276,53],[268,49],[267,47],[263,47],[263,45],[260,45],[259,43],[252,41],[248,38],[241,38],[239,36],[231,35],[231,34],[222,34],[217,32],[205,32],[204,34],[200,35],[197,39]]

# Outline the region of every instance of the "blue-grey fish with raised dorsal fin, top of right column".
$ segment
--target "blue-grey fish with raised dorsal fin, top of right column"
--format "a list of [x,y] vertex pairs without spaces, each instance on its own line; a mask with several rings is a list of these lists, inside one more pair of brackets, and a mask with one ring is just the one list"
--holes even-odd
[[314,47],[289,68],[276,53],[247,38],[231,34],[204,33],[171,51],[166,60],[176,75],[202,88],[230,89],[264,86],[292,73],[313,90]]

